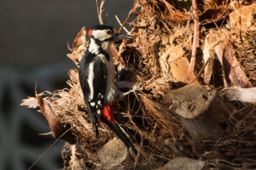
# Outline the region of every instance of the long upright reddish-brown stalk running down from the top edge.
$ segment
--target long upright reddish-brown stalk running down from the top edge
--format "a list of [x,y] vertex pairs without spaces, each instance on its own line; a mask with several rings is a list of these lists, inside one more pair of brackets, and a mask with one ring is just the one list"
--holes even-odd
[[194,15],[194,37],[193,37],[193,45],[192,45],[192,56],[190,59],[189,64],[189,71],[188,71],[188,77],[189,80],[194,68],[195,68],[195,54],[196,54],[196,48],[199,47],[199,18],[198,18],[198,12],[197,12],[197,2],[196,0],[193,0],[193,15]]

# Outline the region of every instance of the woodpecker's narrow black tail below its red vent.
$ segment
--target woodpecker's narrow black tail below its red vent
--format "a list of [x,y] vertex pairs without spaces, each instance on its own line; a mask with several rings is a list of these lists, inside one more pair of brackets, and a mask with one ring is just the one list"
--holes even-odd
[[127,133],[125,133],[125,130],[119,126],[119,124],[116,123],[108,123],[108,126],[113,129],[113,132],[116,133],[116,135],[121,139],[125,146],[127,147],[127,155],[130,156],[130,148],[134,152],[134,154],[137,156],[137,150],[135,149],[134,145],[131,142],[131,139]]

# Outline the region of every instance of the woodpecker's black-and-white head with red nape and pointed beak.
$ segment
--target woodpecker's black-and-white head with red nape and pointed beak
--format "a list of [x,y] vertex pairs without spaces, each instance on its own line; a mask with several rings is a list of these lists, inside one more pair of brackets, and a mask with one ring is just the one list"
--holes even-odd
[[111,43],[121,39],[132,39],[132,36],[118,34],[112,26],[98,25],[90,28],[89,36],[90,53],[98,54],[101,50],[108,51]]

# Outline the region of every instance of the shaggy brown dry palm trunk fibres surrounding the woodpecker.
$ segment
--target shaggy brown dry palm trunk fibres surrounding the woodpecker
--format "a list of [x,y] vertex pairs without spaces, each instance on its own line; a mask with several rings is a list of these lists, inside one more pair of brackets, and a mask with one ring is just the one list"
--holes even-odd
[[[239,14],[239,6],[235,7],[234,3],[228,4],[226,1],[207,1],[205,4],[198,4],[198,20],[201,26],[199,31],[195,31],[195,25],[191,22],[193,15],[191,12],[187,13],[190,5],[167,0],[135,1],[131,14],[137,14],[137,18],[130,23],[133,26],[130,32],[135,36],[135,40],[122,42],[119,50],[112,47],[117,86],[126,91],[134,82],[143,82],[143,88],[139,88],[137,92],[139,101],[134,95],[130,95],[120,100],[116,106],[116,111],[119,112],[118,121],[122,122],[121,126],[129,133],[139,150],[134,165],[121,166],[124,169],[148,166],[158,168],[177,156],[201,159],[207,161],[207,166],[218,169],[256,167],[255,105],[237,101],[227,104],[228,101],[225,99],[230,99],[227,92],[228,89],[233,89],[233,85],[244,88],[256,85],[256,34],[253,31],[255,22],[251,18],[250,21],[247,20],[247,24],[243,23],[244,20],[239,20],[239,17],[235,17],[237,22],[241,22],[239,26],[247,26],[247,31],[241,34],[238,25],[235,28],[226,27],[230,22],[227,18],[229,12],[233,10]],[[254,6],[253,4],[249,8]],[[98,11],[101,13],[101,5]],[[231,20],[234,18],[233,15],[230,15]],[[195,54],[192,54],[193,32],[197,32],[200,38]],[[85,33],[85,28],[82,28],[73,42],[72,54],[68,54],[78,66],[86,49]],[[192,77],[187,79],[191,54],[196,55],[195,69],[192,69]],[[94,138],[90,119],[85,114],[86,108],[77,69],[69,71],[69,77],[67,83],[70,88],[54,93],[36,94],[35,98],[24,100],[23,105],[39,106],[50,126],[56,124],[63,133],[68,131],[70,135],[66,136],[67,142],[77,142],[75,147],[69,144],[65,146],[67,151],[63,151],[64,169],[96,169],[101,167],[96,151],[113,139],[114,134],[108,127],[101,126],[100,138]],[[182,92],[182,88],[190,83],[205,88],[204,92],[207,94],[214,92],[217,97],[214,94],[211,100],[211,96],[194,93],[195,97],[192,95],[190,99],[186,98],[189,92]],[[170,97],[169,94],[173,94],[172,91],[179,88],[180,95],[185,98],[176,99],[177,95]],[[219,136],[212,138],[204,136],[205,133],[201,133],[201,136],[194,135],[196,132],[186,130],[187,119],[180,119],[175,112],[176,105],[181,106],[185,103],[182,101],[188,99],[187,103],[193,104],[193,100],[198,98],[212,102],[208,107],[208,103],[197,103],[206,107],[205,111],[201,111],[202,117],[208,117],[203,114],[212,114],[211,111],[207,111],[212,105],[216,111],[221,111],[217,118],[220,118],[223,112],[228,113],[226,115],[229,116],[222,117],[224,119],[215,117],[216,120],[224,121],[207,120],[212,127],[218,127],[218,130],[221,128],[220,131],[216,131],[220,132]],[[38,99],[43,100],[45,105],[39,105]],[[175,102],[173,99],[176,99]],[[242,102],[247,102],[247,98]],[[224,106],[229,109],[225,109]],[[189,105],[188,108],[193,110],[193,105]],[[185,114],[187,113],[188,111],[185,111]],[[209,117],[213,119],[214,114]],[[195,121],[200,118],[195,116],[191,119]],[[200,130],[204,132],[209,129],[199,129],[198,132]],[[65,134],[61,139],[64,136]]]

